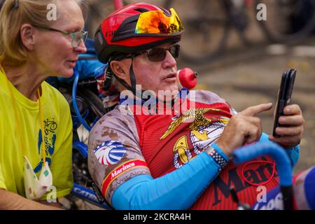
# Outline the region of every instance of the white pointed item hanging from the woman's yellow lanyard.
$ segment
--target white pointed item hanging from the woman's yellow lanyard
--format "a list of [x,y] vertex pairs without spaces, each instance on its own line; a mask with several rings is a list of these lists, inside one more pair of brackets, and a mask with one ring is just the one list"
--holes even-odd
[[39,179],[34,172],[31,163],[26,156],[23,157],[24,164],[24,186],[25,186],[25,196],[29,200],[39,200],[46,191],[52,186],[52,174],[50,172],[48,162],[45,162],[45,165],[41,169],[41,174]]

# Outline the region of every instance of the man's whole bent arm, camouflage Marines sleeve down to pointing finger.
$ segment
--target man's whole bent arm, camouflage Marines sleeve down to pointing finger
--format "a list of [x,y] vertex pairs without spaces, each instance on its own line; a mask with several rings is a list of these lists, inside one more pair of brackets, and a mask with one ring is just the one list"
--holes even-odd
[[[117,111],[111,111],[90,132],[90,174],[102,189],[106,200],[116,209],[188,209],[218,176],[224,167],[221,164],[229,160],[228,157],[235,148],[244,142],[250,144],[259,140],[260,120],[247,113],[266,111],[271,106],[272,104],[253,106],[233,116],[216,144],[211,144],[215,151],[208,148],[207,153],[197,155],[180,169],[157,179],[146,172],[148,167],[144,163],[139,162],[141,167],[138,170],[135,168],[136,162],[132,164],[132,160],[144,160],[133,117],[122,116],[116,119],[113,114]],[[106,151],[111,150],[112,144],[109,143],[112,138],[123,144],[120,146],[126,151],[123,158],[128,160],[106,165]]]

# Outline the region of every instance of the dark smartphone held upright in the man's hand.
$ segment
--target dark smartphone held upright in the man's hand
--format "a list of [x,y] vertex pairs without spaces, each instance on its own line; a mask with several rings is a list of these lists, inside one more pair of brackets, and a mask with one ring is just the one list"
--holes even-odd
[[296,69],[288,69],[282,74],[280,90],[278,93],[278,99],[276,101],[276,111],[274,113],[274,130],[272,132],[274,137],[280,137],[279,134],[276,134],[276,127],[283,126],[279,124],[279,117],[283,116],[284,107],[290,104],[295,75]]

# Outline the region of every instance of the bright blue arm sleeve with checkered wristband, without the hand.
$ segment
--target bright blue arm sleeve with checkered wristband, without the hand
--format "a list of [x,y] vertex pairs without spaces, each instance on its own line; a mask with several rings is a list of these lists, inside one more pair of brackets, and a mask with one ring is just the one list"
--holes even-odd
[[[216,144],[212,144],[216,145]],[[228,157],[216,146],[197,155],[181,169],[153,179],[139,175],[121,184],[113,193],[115,209],[189,209],[227,165]]]

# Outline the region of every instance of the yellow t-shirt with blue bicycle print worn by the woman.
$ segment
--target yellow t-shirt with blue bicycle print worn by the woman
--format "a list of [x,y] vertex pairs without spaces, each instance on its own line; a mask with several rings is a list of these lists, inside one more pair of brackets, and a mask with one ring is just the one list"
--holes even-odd
[[[31,101],[11,83],[10,86],[18,106],[27,158],[38,177],[43,165],[38,101]],[[73,186],[71,114],[69,104],[58,90],[45,82],[41,88],[46,162],[52,172],[52,184],[57,189],[56,197],[62,197],[68,195]],[[25,197],[22,157],[13,102],[6,77],[0,70],[0,188]],[[46,195],[41,200],[46,200]]]

